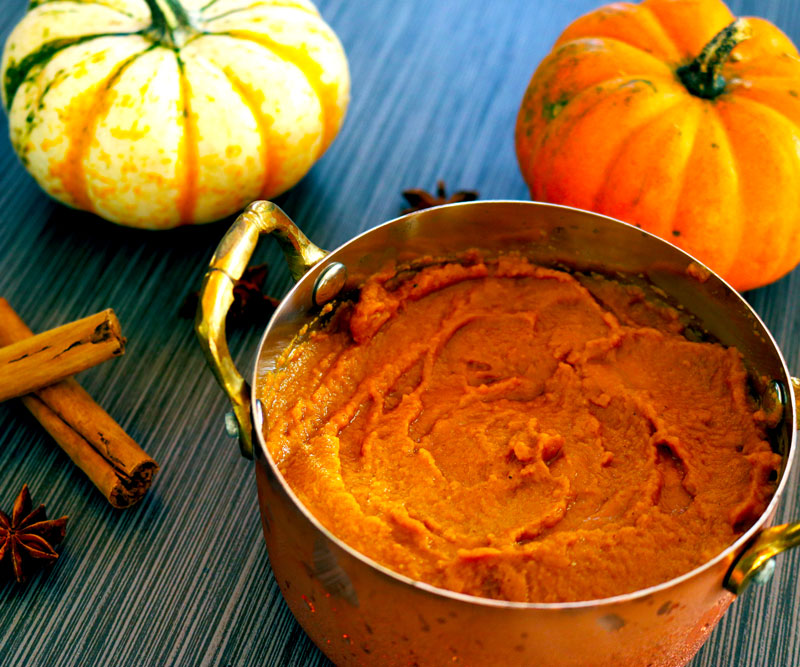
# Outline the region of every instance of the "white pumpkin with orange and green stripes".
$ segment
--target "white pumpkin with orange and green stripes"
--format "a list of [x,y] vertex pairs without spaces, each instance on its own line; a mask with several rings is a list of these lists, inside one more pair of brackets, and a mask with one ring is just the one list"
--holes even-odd
[[2,84],[12,145],[44,190],[163,229],[297,183],[336,136],[350,80],[308,0],[34,0]]

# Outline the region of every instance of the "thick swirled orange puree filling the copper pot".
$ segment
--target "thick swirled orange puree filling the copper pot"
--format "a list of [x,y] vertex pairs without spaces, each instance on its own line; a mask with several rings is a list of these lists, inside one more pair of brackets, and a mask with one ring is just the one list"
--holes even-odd
[[780,457],[737,350],[632,285],[464,261],[374,276],[264,388],[270,451],[334,534],[557,602],[687,572],[764,511]]

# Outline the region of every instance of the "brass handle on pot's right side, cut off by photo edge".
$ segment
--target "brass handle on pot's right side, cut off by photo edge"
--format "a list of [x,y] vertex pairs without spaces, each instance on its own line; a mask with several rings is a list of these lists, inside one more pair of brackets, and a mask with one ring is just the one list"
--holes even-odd
[[[800,380],[792,378],[795,395],[795,425],[800,423]],[[731,593],[739,595],[751,581],[768,579],[774,569],[772,560],[779,553],[800,546],[800,522],[773,526],[763,531],[733,564],[723,585]]]

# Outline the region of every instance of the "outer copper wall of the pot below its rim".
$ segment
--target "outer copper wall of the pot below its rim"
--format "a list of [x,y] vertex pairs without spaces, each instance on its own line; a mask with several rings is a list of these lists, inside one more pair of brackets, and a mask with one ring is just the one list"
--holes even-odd
[[295,618],[337,665],[683,665],[734,600],[722,586],[730,558],[603,602],[513,604],[442,593],[342,548],[307,520],[270,468],[259,455],[270,565]]

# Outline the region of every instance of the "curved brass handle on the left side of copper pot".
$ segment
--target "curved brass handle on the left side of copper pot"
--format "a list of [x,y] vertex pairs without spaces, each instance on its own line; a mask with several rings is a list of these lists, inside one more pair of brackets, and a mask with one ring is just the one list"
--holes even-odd
[[253,458],[253,426],[250,421],[250,387],[236,369],[225,335],[225,318],[233,303],[233,286],[242,277],[262,234],[272,234],[289,265],[292,278],[303,274],[327,254],[298,229],[288,215],[268,201],[254,201],[234,221],[211,258],[200,288],[195,332],[220,387],[233,406],[242,456]]

